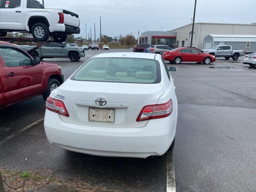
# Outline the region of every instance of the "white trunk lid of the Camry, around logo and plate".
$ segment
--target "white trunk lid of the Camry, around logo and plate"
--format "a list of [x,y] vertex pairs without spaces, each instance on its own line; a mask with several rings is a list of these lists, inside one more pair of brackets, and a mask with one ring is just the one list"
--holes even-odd
[[[63,100],[69,117],[62,120],[73,124],[113,128],[143,127],[148,121],[137,122],[142,108],[157,104],[164,88],[160,84],[131,84],[116,82],[88,82],[67,80],[54,92],[56,99]],[[98,106],[97,98],[103,98],[107,104]],[[89,121],[89,108],[112,109],[114,122]],[[90,110],[90,112],[92,112]]]

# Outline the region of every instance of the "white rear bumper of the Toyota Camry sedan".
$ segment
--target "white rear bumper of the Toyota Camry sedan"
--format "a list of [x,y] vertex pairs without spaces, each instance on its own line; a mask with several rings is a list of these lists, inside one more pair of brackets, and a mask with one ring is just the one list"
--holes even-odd
[[70,151],[146,158],[163,155],[170,148],[176,133],[172,115],[150,120],[140,128],[107,128],[64,122],[58,114],[46,110],[44,129],[51,144]]

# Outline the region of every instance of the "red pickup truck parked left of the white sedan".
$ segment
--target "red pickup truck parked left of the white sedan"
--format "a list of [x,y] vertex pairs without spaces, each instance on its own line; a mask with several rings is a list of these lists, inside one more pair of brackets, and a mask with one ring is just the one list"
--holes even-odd
[[63,81],[58,64],[41,62],[17,45],[0,41],[0,108],[38,95],[46,100]]

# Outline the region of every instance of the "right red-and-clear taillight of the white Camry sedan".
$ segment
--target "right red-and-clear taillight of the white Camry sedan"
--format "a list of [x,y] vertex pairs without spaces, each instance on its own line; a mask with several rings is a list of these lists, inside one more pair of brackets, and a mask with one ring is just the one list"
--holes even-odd
[[136,121],[146,121],[150,119],[159,119],[170,116],[172,114],[172,99],[164,104],[144,106]]

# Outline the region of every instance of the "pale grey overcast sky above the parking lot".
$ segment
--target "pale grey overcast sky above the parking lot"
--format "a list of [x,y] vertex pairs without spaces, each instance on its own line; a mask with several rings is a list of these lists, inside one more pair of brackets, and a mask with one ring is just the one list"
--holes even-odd
[[[42,1],[42,0],[41,0]],[[191,22],[194,0],[44,0],[46,8],[62,8],[79,14],[81,32],[85,37],[96,23],[96,38],[102,34],[123,36],[138,31],[172,30]],[[256,22],[256,0],[197,0],[196,22]],[[77,35],[76,35],[77,36]],[[94,39],[94,38],[93,38]]]

